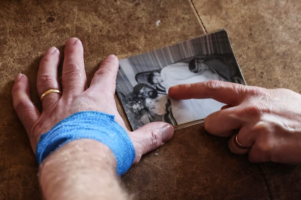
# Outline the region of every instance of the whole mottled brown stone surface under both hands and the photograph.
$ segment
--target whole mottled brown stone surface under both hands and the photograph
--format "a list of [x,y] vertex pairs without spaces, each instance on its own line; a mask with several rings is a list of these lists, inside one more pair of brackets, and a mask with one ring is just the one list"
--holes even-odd
[[[243,1],[248,3],[245,7],[240,7],[238,0],[236,4],[214,2],[194,2],[200,20],[190,0],[1,1],[0,198],[41,198],[38,166],[14,112],[10,92],[15,75],[26,73],[31,80],[33,101],[40,106],[35,88],[38,63],[48,47],[59,47],[68,37],[82,40],[90,79],[107,54],[122,58],[193,38],[203,34],[205,28],[209,32],[226,27],[249,84],[300,91],[294,79],[295,73],[299,74],[299,58],[293,56],[299,47],[290,37],[297,35],[298,27],[283,22],[293,16],[289,7],[282,10],[280,1],[278,7],[266,5],[285,14],[285,20],[279,22],[281,13],[262,10],[264,5],[259,1]],[[295,4],[291,9],[297,10]],[[247,6],[253,9],[248,10]],[[276,16],[271,17],[268,12]],[[263,20],[258,20],[257,15]],[[293,19],[291,23],[296,23],[297,17]],[[161,23],[156,26],[158,20]],[[245,27],[237,30],[235,26]],[[260,31],[254,31],[258,26]],[[122,113],[120,104],[118,109]],[[171,141],[145,155],[122,180],[140,199],[270,199],[268,186],[274,198],[284,199],[287,192],[289,199],[297,197],[295,182],[299,176],[294,175],[298,175],[298,167],[263,165],[263,169],[265,174],[261,165],[230,153],[227,139],[206,134],[202,125],[195,125],[176,131]],[[284,183],[276,178],[285,174],[288,177]],[[291,188],[284,185],[291,181]],[[277,188],[280,193],[275,193]]]

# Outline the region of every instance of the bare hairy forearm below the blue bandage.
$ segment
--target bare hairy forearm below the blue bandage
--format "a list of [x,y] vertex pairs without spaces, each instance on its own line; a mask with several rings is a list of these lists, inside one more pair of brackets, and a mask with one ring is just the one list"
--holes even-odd
[[99,141],[71,141],[40,166],[45,199],[128,199],[112,151]]

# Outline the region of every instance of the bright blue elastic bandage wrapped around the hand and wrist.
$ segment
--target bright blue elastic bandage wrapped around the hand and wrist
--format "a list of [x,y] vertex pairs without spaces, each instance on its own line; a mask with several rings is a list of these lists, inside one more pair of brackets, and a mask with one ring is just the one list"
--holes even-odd
[[114,120],[114,115],[98,111],[82,111],[61,120],[40,136],[36,150],[39,164],[64,144],[84,138],[100,141],[112,150],[119,175],[129,169],[135,158],[134,146],[125,130]]

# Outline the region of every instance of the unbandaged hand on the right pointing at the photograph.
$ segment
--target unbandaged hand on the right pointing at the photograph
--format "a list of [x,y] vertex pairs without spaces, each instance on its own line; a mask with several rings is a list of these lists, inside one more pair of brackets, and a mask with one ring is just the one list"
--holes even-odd
[[[301,95],[289,89],[266,89],[233,82],[209,80],[170,88],[173,98],[213,98],[226,103],[205,118],[205,129],[232,136],[229,148],[249,153],[252,162],[301,163]],[[249,148],[238,148],[238,141]]]

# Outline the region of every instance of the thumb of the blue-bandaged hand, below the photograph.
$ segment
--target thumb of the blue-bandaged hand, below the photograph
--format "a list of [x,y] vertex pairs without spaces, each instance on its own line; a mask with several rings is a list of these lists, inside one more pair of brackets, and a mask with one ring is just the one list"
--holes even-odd
[[174,127],[166,122],[152,122],[143,125],[135,131],[129,132],[135,148],[135,159],[133,163],[139,162],[141,156],[163,145],[172,138]]

